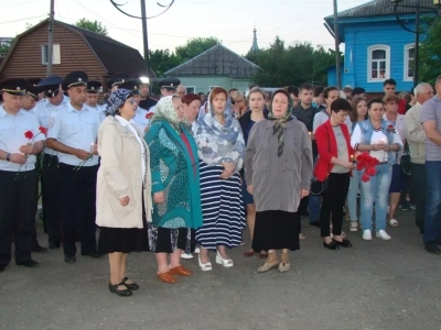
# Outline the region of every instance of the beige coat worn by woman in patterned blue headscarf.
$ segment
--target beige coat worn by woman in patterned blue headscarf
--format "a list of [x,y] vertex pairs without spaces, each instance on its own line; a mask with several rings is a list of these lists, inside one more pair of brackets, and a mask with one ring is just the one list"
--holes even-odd
[[[147,221],[151,222],[150,153],[146,146],[146,187],[142,188],[142,152],[138,140],[128,128],[108,116],[98,131],[98,154],[101,163],[97,178],[96,223],[109,228],[142,228],[142,190]],[[129,196],[123,207],[120,198]]]

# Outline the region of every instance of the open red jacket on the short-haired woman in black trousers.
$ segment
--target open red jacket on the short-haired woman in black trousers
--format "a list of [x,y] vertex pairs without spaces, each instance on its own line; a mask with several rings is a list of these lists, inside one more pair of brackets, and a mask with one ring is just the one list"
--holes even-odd
[[[351,146],[349,132],[346,124],[341,124],[343,135],[347,144],[347,161],[351,162],[351,156],[354,155],[354,150]],[[314,176],[318,180],[323,182],[331,173],[334,164],[331,164],[332,157],[337,157],[337,141],[335,139],[334,130],[332,129],[331,121],[327,120],[321,124],[315,131],[315,142],[318,144],[319,160],[315,164]]]

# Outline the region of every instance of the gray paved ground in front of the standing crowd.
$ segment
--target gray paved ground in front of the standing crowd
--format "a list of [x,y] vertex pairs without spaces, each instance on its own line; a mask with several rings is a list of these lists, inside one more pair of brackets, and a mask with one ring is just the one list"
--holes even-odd
[[67,265],[50,251],[34,255],[37,270],[13,264],[0,274],[0,329],[441,329],[441,256],[422,250],[413,211],[398,219],[391,241],[348,233],[354,248],[340,251],[323,249],[306,224],[286,274],[257,274],[261,261],[240,246],[233,268],[202,273],[184,261],[194,276],[168,285],[154,277],[152,254],[132,254],[141,289],[129,298],[109,293],[105,257]]

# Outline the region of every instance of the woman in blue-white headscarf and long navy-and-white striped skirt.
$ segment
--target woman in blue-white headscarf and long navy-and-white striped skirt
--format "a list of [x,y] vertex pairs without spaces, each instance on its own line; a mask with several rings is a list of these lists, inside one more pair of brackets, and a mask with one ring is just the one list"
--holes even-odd
[[217,251],[216,263],[232,267],[226,248],[241,243],[245,211],[239,170],[245,142],[239,122],[232,117],[228,94],[216,87],[209,94],[208,113],[200,113],[196,127],[201,170],[201,202],[204,224],[196,230],[198,265],[211,271],[208,251]]

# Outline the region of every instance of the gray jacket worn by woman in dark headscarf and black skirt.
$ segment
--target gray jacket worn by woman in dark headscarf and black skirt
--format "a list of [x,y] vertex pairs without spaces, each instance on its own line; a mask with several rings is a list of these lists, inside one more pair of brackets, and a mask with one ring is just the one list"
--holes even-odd
[[306,127],[292,119],[283,124],[283,154],[277,155],[273,122],[257,122],[249,134],[245,157],[245,178],[252,185],[256,210],[297,212],[300,190],[310,190],[313,163]]

